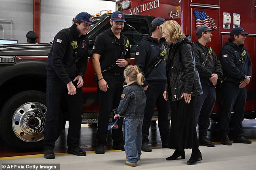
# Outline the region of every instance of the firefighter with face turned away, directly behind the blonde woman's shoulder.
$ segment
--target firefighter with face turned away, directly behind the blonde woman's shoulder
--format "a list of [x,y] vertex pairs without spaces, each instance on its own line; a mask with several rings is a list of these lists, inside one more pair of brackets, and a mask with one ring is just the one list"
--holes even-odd
[[[166,70],[164,60],[160,61],[157,67],[151,68],[159,58],[162,49],[167,48],[166,40],[162,38],[159,26],[165,23],[164,18],[155,18],[151,23],[151,36],[145,36],[136,48],[135,65],[139,66],[141,72],[145,76],[143,88],[147,96],[145,107],[145,116],[142,126],[142,146],[144,152],[151,152],[149,146],[149,126],[155,111],[155,104],[158,111],[158,127],[162,140],[162,147],[168,147],[169,121],[167,101],[164,99],[163,93],[166,84]],[[161,58],[159,58],[161,59]]]

